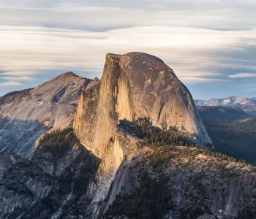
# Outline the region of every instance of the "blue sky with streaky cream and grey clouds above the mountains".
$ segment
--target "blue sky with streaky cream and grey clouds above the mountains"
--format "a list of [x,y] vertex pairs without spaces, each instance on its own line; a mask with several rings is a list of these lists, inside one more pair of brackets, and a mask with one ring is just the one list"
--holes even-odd
[[0,0],[0,96],[63,72],[101,77],[106,53],[161,58],[195,99],[256,96],[255,0]]

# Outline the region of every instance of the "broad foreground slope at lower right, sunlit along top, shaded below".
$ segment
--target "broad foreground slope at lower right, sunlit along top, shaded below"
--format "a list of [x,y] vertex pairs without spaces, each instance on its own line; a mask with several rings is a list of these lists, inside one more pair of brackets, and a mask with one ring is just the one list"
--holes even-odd
[[196,147],[144,147],[118,169],[102,217],[255,218],[255,173]]

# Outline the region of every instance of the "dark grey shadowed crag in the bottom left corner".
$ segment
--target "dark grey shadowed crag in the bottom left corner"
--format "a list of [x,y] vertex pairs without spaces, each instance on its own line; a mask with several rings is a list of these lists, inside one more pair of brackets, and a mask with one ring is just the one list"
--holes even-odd
[[0,218],[18,218],[35,201],[56,190],[56,180],[13,153],[0,157]]

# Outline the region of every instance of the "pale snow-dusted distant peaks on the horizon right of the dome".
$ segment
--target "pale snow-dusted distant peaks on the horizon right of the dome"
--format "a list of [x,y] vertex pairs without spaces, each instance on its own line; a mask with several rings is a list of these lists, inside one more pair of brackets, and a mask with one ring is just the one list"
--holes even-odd
[[222,99],[209,99],[209,100],[195,100],[197,106],[229,106],[235,109],[244,110],[249,115],[256,115],[256,101],[241,96],[230,96]]

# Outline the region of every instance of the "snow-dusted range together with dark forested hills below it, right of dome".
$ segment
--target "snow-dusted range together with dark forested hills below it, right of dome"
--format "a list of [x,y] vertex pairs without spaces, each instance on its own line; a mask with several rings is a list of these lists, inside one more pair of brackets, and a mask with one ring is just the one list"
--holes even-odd
[[214,147],[220,153],[256,163],[256,101],[230,96],[195,100]]

